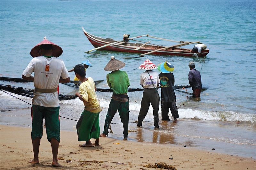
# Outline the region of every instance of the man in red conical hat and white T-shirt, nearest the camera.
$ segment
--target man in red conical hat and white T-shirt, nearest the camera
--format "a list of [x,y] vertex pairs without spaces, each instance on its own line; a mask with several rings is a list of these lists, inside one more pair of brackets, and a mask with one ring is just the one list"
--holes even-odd
[[[32,164],[39,164],[38,153],[40,141],[43,136],[43,119],[45,119],[47,139],[51,142],[52,146],[52,166],[61,166],[58,163],[60,105],[57,87],[59,82],[67,83],[70,81],[64,62],[57,58],[61,54],[62,49],[44,37],[42,42],[31,49],[30,55],[34,58],[22,73],[22,78],[34,81],[35,86],[31,108],[31,139],[34,158],[29,163]],[[33,72],[35,72],[34,77],[31,76]]]

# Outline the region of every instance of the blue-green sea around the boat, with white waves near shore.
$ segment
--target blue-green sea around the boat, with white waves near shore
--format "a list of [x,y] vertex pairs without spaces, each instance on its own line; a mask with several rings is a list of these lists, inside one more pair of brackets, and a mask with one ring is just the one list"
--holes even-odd
[[[128,73],[130,87],[138,88],[140,73],[143,72],[138,67],[146,57],[125,59],[124,57],[135,57],[138,54],[109,51],[95,52],[100,55],[86,54],[84,51],[94,47],[84,36],[82,26],[93,35],[116,41],[122,40],[124,33],[131,37],[149,34],[178,41],[200,41],[210,49],[205,58],[147,56],[155,64],[168,61],[174,65],[175,85],[188,85],[188,63],[194,61],[196,69],[201,73],[203,86],[208,87],[198,100],[176,92],[180,122],[177,125],[160,122],[162,128],[157,133],[166,134],[165,137],[181,137],[180,143],[184,142],[184,138],[203,138],[206,141],[237,144],[239,147],[249,146],[253,153],[248,153],[247,156],[255,155],[255,12],[254,0],[2,0],[0,74],[4,77],[21,78],[22,71],[32,59],[30,50],[46,36],[63,49],[60,58],[68,70],[89,59],[93,67],[87,69],[87,76],[94,80],[106,79],[109,72],[104,71],[104,67],[110,56],[114,55],[126,64],[122,70]],[[151,40],[153,44],[166,46],[175,44],[148,37],[138,40]],[[185,47],[193,48],[193,45]],[[70,77],[74,77],[73,72]],[[63,90],[66,87],[60,87],[60,93],[74,95],[74,89],[68,91]],[[99,87],[108,88],[108,85],[104,81]],[[188,92],[192,91],[189,89]],[[104,100],[104,95],[99,97]],[[6,98],[1,93],[1,100]],[[108,102],[103,105],[108,107]],[[130,115],[136,117],[139,109],[140,104],[131,103]],[[161,109],[161,116],[160,113]],[[152,109],[148,116],[151,116],[148,119],[153,119]],[[118,119],[118,115],[116,117]],[[194,124],[196,132],[189,130],[192,127],[186,124]],[[152,127],[153,122],[144,124],[145,129],[156,133]],[[179,127],[180,130],[175,130]],[[136,126],[133,129],[136,130]],[[201,129],[205,131],[200,132]],[[135,135],[131,133],[131,138],[135,139],[138,134],[139,132]],[[138,140],[139,138],[137,137]],[[152,142],[153,139],[144,140]]]

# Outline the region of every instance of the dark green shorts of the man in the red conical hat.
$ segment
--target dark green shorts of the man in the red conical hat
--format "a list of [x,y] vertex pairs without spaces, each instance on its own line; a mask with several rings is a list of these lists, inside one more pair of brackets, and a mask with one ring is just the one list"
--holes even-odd
[[45,128],[47,139],[50,142],[52,138],[55,138],[60,142],[60,119],[59,119],[60,107],[44,107],[38,105],[32,105],[31,117],[32,117],[32,140],[43,137],[43,120],[45,119]]

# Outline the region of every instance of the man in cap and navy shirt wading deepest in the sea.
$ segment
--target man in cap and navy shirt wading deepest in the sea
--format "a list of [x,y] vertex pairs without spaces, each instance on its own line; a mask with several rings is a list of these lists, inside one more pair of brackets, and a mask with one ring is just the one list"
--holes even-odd
[[188,72],[188,81],[193,89],[192,97],[200,97],[200,93],[202,90],[201,74],[195,69],[195,62],[189,62],[188,66],[190,69],[190,71]]

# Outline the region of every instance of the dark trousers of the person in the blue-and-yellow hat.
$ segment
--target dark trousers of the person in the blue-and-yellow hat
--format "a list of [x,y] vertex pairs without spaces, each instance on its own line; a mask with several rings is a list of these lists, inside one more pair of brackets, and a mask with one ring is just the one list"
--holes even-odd
[[169,121],[169,109],[171,110],[173,119],[177,119],[179,117],[178,108],[176,106],[176,99],[171,102],[163,102],[161,104],[162,108],[162,120]]

